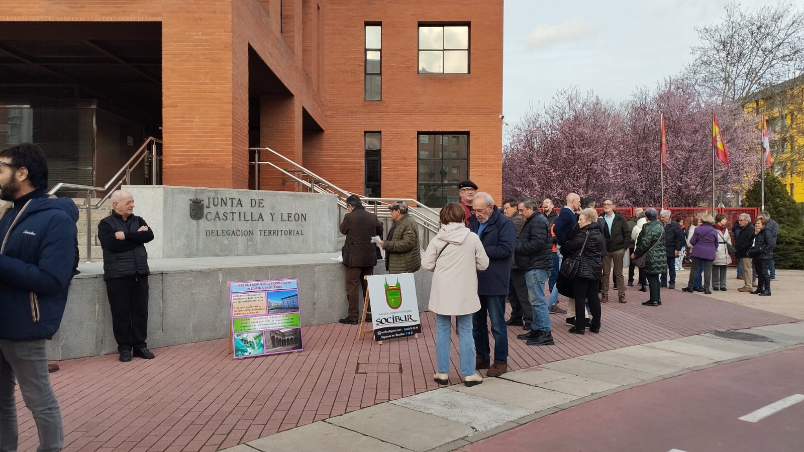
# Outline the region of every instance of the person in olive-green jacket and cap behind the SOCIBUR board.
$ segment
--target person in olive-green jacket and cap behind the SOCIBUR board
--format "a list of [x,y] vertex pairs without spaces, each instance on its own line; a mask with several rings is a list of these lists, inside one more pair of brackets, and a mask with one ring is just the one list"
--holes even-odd
[[385,250],[385,269],[388,273],[413,273],[421,268],[419,225],[404,201],[396,201],[388,210],[394,224],[388,231],[388,240],[379,242]]

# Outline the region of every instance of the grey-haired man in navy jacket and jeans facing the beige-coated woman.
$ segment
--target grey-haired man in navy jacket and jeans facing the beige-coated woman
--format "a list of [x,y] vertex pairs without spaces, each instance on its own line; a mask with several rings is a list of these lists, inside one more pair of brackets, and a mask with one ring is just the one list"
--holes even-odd
[[[469,228],[480,237],[489,257],[489,267],[478,272],[480,310],[472,318],[472,335],[477,353],[476,367],[489,369],[486,376],[500,376],[508,372],[508,335],[505,325],[505,297],[511,279],[511,261],[514,258],[516,227],[494,205],[494,199],[483,191],[472,200],[474,218]],[[486,315],[487,314],[487,315]],[[490,364],[489,327],[494,336],[494,364]]]

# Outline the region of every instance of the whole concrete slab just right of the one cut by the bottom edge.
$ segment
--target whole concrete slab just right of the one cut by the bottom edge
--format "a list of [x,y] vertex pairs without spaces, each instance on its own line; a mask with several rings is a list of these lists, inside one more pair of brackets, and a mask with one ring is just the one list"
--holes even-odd
[[[332,417],[326,422],[417,452],[474,434],[469,425],[391,403]],[[423,429],[423,425],[427,428]]]

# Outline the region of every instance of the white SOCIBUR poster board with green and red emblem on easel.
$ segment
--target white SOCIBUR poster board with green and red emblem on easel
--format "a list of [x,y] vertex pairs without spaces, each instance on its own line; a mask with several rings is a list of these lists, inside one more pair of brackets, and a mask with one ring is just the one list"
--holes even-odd
[[421,332],[413,273],[368,277],[368,298],[375,341]]

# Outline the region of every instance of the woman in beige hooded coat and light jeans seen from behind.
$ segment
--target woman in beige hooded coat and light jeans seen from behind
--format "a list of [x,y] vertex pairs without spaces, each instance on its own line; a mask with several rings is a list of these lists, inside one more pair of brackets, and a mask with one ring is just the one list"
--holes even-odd
[[433,376],[438,384],[449,383],[449,335],[455,316],[461,352],[461,375],[466,386],[481,384],[483,377],[474,368],[472,314],[480,309],[478,270],[489,266],[489,257],[464,224],[461,204],[449,203],[441,209],[441,230],[425,251],[421,266],[433,272],[429,310],[436,314],[436,362]]

